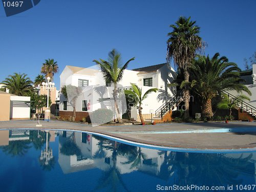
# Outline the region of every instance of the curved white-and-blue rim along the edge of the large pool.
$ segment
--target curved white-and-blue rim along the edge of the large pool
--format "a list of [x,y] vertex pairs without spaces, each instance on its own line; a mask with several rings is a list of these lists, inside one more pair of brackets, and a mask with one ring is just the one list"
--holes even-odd
[[54,130],[54,131],[72,131],[72,132],[82,132],[82,133],[89,133],[93,135],[98,135],[113,141],[117,141],[124,144],[129,144],[138,147],[150,148],[154,150],[161,150],[161,151],[175,151],[175,152],[186,152],[186,153],[252,153],[256,152],[256,147],[230,147],[230,148],[206,148],[206,147],[179,147],[177,145],[172,146],[164,146],[164,145],[157,145],[151,144],[148,141],[141,142],[143,140],[136,139],[136,138],[129,138],[122,137],[120,135],[115,135],[113,133],[108,132],[93,132],[93,131],[85,131],[85,130],[72,130],[72,129],[56,129],[56,128],[8,128],[8,129],[0,129],[0,130]]

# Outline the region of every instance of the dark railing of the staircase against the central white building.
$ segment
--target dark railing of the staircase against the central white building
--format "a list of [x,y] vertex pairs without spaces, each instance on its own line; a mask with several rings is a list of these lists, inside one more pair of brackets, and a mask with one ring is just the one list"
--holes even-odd
[[161,119],[163,120],[163,115],[170,110],[173,110],[175,104],[179,104],[179,100],[183,97],[183,91],[178,91],[175,95],[168,99],[166,103],[163,103],[156,111],[155,114],[161,112]]

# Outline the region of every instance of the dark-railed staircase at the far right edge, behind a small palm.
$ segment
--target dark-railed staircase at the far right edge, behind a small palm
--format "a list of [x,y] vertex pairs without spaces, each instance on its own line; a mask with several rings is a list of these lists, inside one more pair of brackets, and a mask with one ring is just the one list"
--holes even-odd
[[252,106],[250,105],[249,103],[241,100],[241,99],[238,99],[236,96],[226,92],[226,91],[223,91],[223,93],[225,93],[228,98],[230,98],[231,102],[233,102],[234,100],[236,100],[237,102],[237,106],[241,109],[241,111],[243,112],[247,112],[248,114],[252,115],[254,118],[256,117],[256,108],[255,106]]

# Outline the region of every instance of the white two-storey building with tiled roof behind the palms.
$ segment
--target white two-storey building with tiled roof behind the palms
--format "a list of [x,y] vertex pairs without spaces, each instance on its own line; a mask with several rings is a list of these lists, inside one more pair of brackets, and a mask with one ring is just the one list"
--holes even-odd
[[[169,69],[167,64],[163,63],[134,70],[124,70],[118,88],[119,90],[129,89],[131,83],[135,83],[142,88],[143,94],[148,89],[158,88],[159,90],[162,90],[166,96],[172,96],[172,88],[167,87],[167,84],[172,82],[174,78],[174,70]],[[100,108],[114,110],[113,100],[109,99],[113,97],[113,87],[108,87],[110,85],[106,85],[99,69],[66,66],[60,74],[60,89],[69,84],[76,87],[83,87],[83,94],[77,98],[76,102],[76,120],[81,120],[82,117],[88,117],[90,112]],[[165,102],[166,98],[160,100],[157,99],[159,94],[160,92],[151,93],[143,101],[142,114],[145,119],[150,119],[150,111],[155,112]],[[126,102],[123,104],[126,105]],[[125,111],[123,110],[122,114]],[[72,115],[72,112],[73,107],[69,104],[68,99],[60,94],[59,115],[68,117]],[[131,117],[135,120],[139,120],[138,110],[135,107],[131,110]]]

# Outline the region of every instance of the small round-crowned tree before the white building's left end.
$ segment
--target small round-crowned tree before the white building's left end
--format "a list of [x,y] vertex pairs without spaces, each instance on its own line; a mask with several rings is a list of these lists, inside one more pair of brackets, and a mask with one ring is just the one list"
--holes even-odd
[[73,107],[73,117],[72,120],[76,119],[76,100],[82,94],[82,89],[80,87],[72,86],[63,86],[60,91],[68,100],[71,106]]

